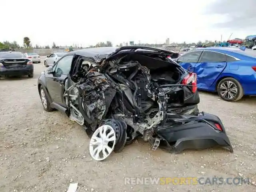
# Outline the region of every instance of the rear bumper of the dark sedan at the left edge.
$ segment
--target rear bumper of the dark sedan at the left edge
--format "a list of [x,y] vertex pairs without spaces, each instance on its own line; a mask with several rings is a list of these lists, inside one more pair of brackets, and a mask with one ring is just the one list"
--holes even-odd
[[26,67],[14,67],[14,68],[5,68],[0,67],[0,76],[22,76],[30,75],[34,73],[34,66],[27,65]]

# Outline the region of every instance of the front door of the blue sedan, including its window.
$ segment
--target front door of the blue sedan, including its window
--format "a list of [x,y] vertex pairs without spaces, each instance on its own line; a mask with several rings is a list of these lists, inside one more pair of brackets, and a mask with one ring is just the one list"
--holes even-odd
[[201,50],[188,52],[180,56],[177,62],[186,70],[194,72],[194,67],[196,66],[201,54]]

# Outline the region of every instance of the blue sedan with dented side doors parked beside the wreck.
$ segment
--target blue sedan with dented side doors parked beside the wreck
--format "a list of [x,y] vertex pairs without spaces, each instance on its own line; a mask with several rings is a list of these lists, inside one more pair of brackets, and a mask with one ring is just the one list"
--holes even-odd
[[226,101],[256,95],[256,51],[239,48],[196,48],[176,59],[197,74],[200,90],[218,92]]

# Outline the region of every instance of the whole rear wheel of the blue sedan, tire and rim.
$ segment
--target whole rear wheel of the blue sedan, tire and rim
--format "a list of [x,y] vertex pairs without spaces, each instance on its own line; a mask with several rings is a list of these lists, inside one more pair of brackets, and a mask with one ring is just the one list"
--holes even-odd
[[217,92],[220,98],[229,102],[236,102],[244,96],[240,82],[231,77],[224,78],[218,83]]

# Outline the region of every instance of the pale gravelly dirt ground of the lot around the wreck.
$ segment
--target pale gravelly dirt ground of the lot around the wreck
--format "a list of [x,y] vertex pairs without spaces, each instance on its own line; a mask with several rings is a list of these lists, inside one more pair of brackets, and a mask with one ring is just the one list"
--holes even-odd
[[78,192],[256,191],[255,183],[236,185],[124,185],[130,177],[250,177],[256,181],[256,98],[230,103],[201,92],[200,110],[218,115],[234,154],[226,150],[150,151],[142,141],[92,160],[89,138],[58,111],[45,112],[37,78],[45,67],[34,64],[34,78],[0,81],[0,192],[64,192],[78,182]]

